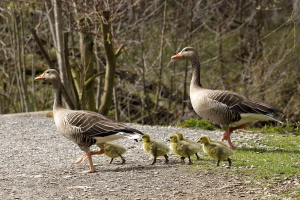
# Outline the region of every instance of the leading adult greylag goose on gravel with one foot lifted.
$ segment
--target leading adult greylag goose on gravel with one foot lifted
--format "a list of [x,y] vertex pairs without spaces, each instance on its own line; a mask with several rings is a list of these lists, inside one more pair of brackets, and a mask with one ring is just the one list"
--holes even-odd
[[[54,92],[53,117],[58,130],[67,139],[76,143],[85,152],[76,162],[82,163],[87,157],[89,170],[96,172],[91,156],[104,153],[103,142],[122,137],[133,138],[137,141],[143,133],[112,118],[88,110],[70,110],[62,107],[61,81],[55,69],[48,69],[35,80],[45,80],[52,83]],[[90,151],[90,146],[97,144],[99,151]]]

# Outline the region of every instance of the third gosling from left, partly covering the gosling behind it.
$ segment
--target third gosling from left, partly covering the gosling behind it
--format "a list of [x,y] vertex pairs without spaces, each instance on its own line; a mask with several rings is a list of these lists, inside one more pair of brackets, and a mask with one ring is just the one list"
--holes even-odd
[[181,155],[181,161],[184,162],[184,159],[188,157],[188,164],[191,164],[190,156],[199,150],[199,146],[186,141],[179,141],[177,134],[171,134],[168,140],[171,142],[171,150],[174,153]]

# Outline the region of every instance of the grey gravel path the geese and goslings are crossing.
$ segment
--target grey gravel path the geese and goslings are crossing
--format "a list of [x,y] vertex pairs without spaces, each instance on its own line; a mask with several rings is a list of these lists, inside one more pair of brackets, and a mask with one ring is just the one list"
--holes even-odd
[[[221,134],[172,126],[131,126],[162,141],[176,131],[194,139],[207,133],[216,139]],[[239,133],[234,139],[255,136]],[[169,164],[159,157],[155,165],[148,165],[152,158],[142,150],[142,143],[126,138],[116,141],[127,147],[125,164],[120,164],[120,158],[108,164],[109,157],[95,155],[99,172],[78,173],[88,169],[88,162],[74,163],[83,151],[56,130],[53,118],[0,116],[0,138],[0,199],[274,199],[278,188],[290,188],[277,182],[268,188],[259,183],[247,187],[246,176],[215,173],[202,167],[201,161],[188,167],[177,163],[178,156],[171,152]]]

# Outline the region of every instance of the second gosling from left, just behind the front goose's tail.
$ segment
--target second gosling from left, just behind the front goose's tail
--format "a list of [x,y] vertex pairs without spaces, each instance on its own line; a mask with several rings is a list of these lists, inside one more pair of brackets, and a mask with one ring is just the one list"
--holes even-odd
[[162,155],[165,158],[165,163],[168,162],[166,153],[168,153],[170,149],[166,144],[160,141],[151,140],[149,133],[144,133],[141,136],[141,140],[143,141],[142,148],[154,158],[150,165],[153,165],[156,162],[156,157]]

